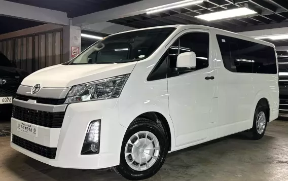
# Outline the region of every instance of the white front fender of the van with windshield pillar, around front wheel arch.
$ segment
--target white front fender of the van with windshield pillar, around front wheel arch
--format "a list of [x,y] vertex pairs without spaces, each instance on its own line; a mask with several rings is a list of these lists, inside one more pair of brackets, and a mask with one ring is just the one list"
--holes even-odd
[[149,58],[137,62],[119,97],[119,123],[126,128],[143,113],[157,112],[166,118],[170,127],[171,150],[175,146],[175,137],[169,116],[167,79],[147,81],[147,78],[165,53],[165,46],[177,32],[178,29],[170,34]]

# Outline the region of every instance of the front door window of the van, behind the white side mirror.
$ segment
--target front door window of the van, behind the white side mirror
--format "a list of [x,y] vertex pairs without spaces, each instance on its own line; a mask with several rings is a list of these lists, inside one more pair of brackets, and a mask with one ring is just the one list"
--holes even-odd
[[208,67],[209,33],[191,32],[184,34],[169,48],[170,67],[176,67],[177,56],[193,51],[196,54],[196,70]]

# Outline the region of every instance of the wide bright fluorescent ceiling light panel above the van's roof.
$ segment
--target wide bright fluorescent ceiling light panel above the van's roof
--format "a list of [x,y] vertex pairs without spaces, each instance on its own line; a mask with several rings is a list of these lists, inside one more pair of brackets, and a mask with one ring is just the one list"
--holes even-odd
[[217,19],[232,18],[232,17],[244,16],[244,15],[256,14],[256,13],[257,13],[256,11],[250,10],[248,8],[237,8],[237,9],[232,9],[232,10],[198,15],[195,17],[204,19],[206,21],[212,21],[212,20],[217,20]]

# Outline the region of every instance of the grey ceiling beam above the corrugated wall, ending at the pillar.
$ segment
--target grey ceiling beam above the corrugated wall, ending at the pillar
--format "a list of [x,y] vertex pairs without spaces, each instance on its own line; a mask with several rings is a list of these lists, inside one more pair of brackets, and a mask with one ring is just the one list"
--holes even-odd
[[67,13],[0,0],[0,16],[37,21],[42,23],[68,25]]

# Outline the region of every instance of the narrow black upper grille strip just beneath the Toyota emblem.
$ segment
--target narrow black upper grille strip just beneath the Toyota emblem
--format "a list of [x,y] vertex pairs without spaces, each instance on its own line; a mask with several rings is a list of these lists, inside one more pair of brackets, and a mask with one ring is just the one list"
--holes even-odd
[[50,105],[61,105],[64,104],[66,99],[53,99],[53,98],[43,98],[43,97],[33,97],[26,95],[16,95],[16,99],[27,101],[29,99],[36,100],[37,103],[50,104]]

